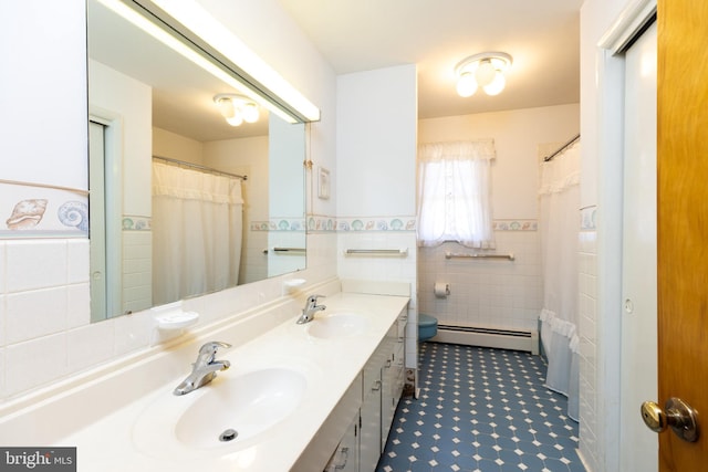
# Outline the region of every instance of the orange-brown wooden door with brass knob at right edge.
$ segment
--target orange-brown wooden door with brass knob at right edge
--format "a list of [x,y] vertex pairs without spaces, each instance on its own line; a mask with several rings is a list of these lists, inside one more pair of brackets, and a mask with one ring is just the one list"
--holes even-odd
[[658,1],[658,396],[701,436],[659,436],[659,471],[708,470],[708,2]]

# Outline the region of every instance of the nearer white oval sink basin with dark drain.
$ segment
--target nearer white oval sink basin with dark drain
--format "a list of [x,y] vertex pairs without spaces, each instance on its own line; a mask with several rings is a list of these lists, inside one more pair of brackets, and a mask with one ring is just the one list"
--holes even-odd
[[181,397],[158,398],[135,424],[136,445],[160,457],[250,447],[295,411],[306,389],[304,375],[288,368],[227,376]]

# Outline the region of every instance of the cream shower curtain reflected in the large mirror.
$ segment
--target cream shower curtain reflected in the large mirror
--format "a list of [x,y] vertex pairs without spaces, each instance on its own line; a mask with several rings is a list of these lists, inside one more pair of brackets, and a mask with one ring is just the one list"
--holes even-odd
[[242,238],[241,180],[153,162],[153,304],[233,286]]

